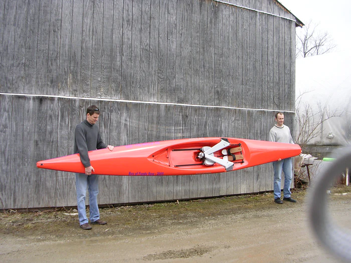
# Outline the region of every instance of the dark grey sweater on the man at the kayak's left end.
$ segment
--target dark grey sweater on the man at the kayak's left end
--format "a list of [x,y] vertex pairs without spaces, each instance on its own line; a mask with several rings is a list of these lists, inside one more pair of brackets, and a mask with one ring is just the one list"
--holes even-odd
[[102,141],[99,128],[96,125],[90,124],[85,120],[76,126],[74,133],[74,153],[79,153],[84,167],[90,166],[88,151],[106,147],[107,145]]

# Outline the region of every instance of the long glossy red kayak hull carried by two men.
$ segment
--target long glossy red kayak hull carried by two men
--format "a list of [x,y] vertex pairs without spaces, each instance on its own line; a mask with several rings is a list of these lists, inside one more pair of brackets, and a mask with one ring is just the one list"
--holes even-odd
[[[230,146],[241,146],[243,160],[233,161],[233,170],[248,168],[299,155],[297,144],[226,138]],[[212,147],[221,141],[220,137],[178,139],[114,147],[113,151],[100,149],[89,152],[95,174],[159,176],[190,175],[226,172],[226,168],[214,163],[205,165],[198,158],[202,147]],[[221,151],[214,156],[223,158]],[[37,162],[38,168],[66,172],[85,173],[79,154]]]

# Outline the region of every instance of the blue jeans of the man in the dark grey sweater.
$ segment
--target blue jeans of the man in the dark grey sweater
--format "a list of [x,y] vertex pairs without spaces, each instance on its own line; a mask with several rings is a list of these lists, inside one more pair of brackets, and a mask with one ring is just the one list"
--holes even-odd
[[97,205],[99,176],[97,174],[86,175],[84,173],[76,173],[77,206],[80,225],[89,222],[85,210],[87,188],[89,191],[89,218],[91,222],[94,222],[100,219],[99,207]]

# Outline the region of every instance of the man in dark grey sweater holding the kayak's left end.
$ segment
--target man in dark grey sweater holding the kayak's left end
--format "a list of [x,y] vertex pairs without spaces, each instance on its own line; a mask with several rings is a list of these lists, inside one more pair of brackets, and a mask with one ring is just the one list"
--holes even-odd
[[94,172],[94,167],[90,164],[88,151],[108,148],[113,150],[113,146],[106,145],[100,136],[99,128],[95,125],[100,115],[99,109],[91,105],[87,109],[86,120],[76,126],[74,134],[74,153],[79,153],[80,160],[85,167],[84,173],[76,173],[77,206],[80,227],[89,230],[91,225],[85,210],[85,196],[89,191],[89,218],[92,224],[106,224],[100,219],[97,195],[99,193],[99,178]]

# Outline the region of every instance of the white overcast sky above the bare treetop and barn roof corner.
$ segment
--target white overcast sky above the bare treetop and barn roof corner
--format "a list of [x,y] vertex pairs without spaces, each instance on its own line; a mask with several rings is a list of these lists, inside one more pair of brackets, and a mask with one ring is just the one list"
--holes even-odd
[[[305,25],[312,21],[318,29],[328,32],[337,45],[335,52],[351,54],[350,0],[278,0]],[[298,28],[296,30],[299,30]]]

